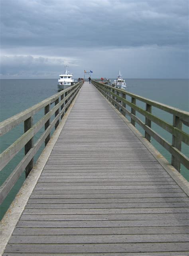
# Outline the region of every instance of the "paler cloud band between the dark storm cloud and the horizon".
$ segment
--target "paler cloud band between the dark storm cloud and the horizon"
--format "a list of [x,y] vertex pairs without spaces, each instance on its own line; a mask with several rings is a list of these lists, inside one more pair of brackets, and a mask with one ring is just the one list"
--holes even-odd
[[185,50],[149,46],[132,48],[90,48],[78,52],[65,50],[69,57],[3,56],[1,75],[4,78],[57,78],[64,65],[74,77],[83,70],[93,70],[93,77],[116,77],[119,69],[126,78],[183,78],[188,72]]

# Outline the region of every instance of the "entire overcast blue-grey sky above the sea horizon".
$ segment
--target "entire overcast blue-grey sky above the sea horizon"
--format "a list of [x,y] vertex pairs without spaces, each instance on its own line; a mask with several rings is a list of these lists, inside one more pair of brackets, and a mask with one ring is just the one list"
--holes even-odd
[[1,78],[188,78],[188,0],[0,0]]

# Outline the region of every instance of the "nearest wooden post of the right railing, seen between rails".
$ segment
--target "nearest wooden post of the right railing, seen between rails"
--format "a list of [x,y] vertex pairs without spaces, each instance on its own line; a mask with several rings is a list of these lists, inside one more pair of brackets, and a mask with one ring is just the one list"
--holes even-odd
[[[173,115],[173,126],[177,127],[180,130],[182,129],[182,121],[176,115]],[[179,151],[181,151],[181,143],[182,143],[181,139],[178,136],[175,137],[173,135],[172,146],[176,147]],[[175,169],[177,169],[177,171],[179,171],[179,172],[181,171],[181,163],[180,163],[179,159],[177,159],[173,155],[171,157],[171,165],[173,165],[175,167]]]

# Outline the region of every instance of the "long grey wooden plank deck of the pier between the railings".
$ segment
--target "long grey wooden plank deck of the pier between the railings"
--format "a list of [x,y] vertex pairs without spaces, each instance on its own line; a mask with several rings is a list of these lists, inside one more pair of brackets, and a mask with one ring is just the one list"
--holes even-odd
[[189,255],[188,201],[85,82],[4,255]]

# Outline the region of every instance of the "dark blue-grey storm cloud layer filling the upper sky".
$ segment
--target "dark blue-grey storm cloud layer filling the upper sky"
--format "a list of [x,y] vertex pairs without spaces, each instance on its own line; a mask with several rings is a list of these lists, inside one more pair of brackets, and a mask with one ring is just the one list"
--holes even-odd
[[187,44],[186,0],[2,0],[2,46]]

